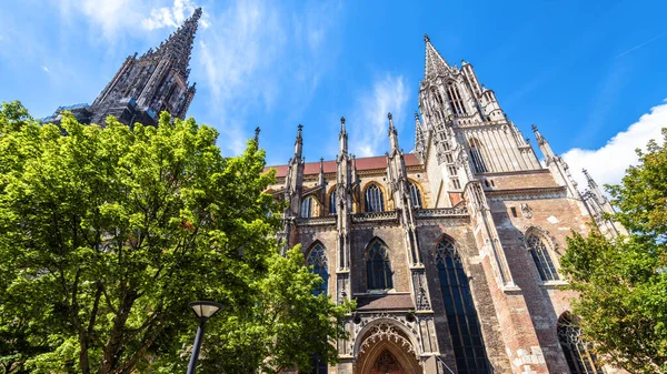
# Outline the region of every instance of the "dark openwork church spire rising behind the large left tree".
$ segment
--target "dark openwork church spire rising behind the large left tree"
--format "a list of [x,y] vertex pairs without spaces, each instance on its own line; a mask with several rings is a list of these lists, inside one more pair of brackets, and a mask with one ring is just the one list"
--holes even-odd
[[92,105],[60,107],[43,121],[58,123],[63,110],[71,111],[80,122],[102,125],[108,115],[129,125],[155,125],[161,111],[185,119],[196,92],[195,83],[188,79],[200,17],[201,8],[157,49],[151,48],[141,57],[128,57]]

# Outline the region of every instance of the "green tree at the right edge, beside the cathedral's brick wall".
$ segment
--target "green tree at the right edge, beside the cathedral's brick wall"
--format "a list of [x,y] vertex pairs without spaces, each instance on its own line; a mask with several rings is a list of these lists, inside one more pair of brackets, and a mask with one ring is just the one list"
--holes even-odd
[[[667,140],[667,129],[663,129]],[[561,259],[586,338],[630,373],[667,373],[667,142],[637,150],[639,164],[607,186],[630,234],[575,233]]]

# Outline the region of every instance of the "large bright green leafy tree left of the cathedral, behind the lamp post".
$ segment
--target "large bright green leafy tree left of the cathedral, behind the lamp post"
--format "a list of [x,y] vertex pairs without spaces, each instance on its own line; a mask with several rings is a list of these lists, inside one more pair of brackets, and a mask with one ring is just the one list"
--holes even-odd
[[[263,333],[261,341],[272,343],[246,345],[252,370],[301,365],[300,340],[335,338],[336,319],[349,306],[311,294],[317,276],[295,251],[278,255],[271,212],[279,206],[263,193],[275,180],[263,173],[263,150],[251,140],[240,156],[223,158],[217,137],[167,113],[157,128],[130,129],[111,117],[104,128],[83,125],[71,115],[59,128],[32,120],[18,102],[2,105],[7,373],[176,372],[192,344],[193,300],[226,305],[210,322],[203,371],[233,372],[207,344],[232,352],[240,345],[228,335]],[[262,305],[263,314],[255,312]],[[262,331],[270,312],[285,325]],[[332,357],[327,344],[308,348]]]

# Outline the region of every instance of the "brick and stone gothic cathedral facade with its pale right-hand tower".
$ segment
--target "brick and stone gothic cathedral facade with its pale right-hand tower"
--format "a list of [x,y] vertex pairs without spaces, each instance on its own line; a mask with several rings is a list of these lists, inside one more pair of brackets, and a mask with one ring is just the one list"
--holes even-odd
[[315,373],[615,372],[580,338],[559,272],[571,230],[624,232],[609,202],[534,127],[542,165],[472,65],[425,41],[412,153],[389,114],[388,153],[357,159],[341,119],[336,160],[306,163],[299,125],[288,164],[267,168],[285,245],[302,244],[321,292],[357,302],[340,363]]

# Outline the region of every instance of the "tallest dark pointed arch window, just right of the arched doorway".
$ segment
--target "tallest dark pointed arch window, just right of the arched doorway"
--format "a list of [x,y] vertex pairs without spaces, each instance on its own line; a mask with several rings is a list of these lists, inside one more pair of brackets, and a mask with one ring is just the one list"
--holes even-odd
[[490,365],[468,276],[449,239],[442,239],[436,246],[436,267],[458,373],[489,374]]

